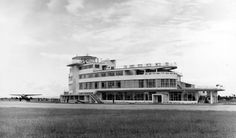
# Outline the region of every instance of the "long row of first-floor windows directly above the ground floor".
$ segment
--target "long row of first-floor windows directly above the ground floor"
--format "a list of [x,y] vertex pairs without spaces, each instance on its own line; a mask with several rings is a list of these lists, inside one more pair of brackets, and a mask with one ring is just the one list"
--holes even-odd
[[176,79],[121,80],[79,83],[79,89],[176,87]]

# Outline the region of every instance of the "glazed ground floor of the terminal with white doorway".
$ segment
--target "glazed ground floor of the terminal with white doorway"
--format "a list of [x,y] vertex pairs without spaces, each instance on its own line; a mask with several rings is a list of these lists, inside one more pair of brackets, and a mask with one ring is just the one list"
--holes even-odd
[[61,95],[65,103],[157,103],[197,104],[217,103],[217,92],[199,91],[124,91],[96,92],[95,94]]

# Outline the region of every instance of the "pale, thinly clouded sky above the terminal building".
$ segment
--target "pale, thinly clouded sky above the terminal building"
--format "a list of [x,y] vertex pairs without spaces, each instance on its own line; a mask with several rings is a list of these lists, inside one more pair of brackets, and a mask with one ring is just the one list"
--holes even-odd
[[182,80],[236,94],[235,0],[0,0],[0,97],[68,90],[75,55],[176,62]]

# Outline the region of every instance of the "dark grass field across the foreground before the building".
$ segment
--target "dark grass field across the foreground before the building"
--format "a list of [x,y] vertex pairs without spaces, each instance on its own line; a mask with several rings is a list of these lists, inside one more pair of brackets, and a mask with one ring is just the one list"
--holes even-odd
[[0,108],[0,137],[233,138],[236,112]]

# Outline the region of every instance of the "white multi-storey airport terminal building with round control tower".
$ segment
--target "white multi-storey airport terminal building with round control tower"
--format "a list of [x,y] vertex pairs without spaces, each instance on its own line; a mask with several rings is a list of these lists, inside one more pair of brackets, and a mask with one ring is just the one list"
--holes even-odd
[[217,103],[222,88],[197,88],[182,82],[175,63],[148,63],[116,67],[115,60],[93,56],[72,58],[69,91],[60,96],[69,103]]

